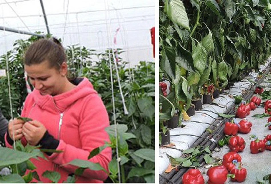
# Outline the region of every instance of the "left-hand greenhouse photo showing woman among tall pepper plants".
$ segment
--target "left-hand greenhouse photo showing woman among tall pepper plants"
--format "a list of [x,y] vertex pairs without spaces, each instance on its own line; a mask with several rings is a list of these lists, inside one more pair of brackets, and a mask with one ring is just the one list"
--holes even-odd
[[154,183],[154,9],[0,0],[0,183]]

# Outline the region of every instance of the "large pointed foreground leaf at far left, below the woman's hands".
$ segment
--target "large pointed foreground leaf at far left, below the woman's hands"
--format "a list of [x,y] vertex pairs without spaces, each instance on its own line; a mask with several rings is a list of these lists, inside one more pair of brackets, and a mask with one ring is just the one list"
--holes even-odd
[[34,157],[34,154],[15,151],[10,148],[0,147],[0,167],[19,164]]

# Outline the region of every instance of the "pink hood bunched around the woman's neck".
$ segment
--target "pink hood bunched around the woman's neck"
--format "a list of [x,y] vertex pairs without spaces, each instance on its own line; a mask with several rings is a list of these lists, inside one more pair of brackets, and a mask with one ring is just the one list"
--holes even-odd
[[93,85],[86,77],[79,79],[76,78],[74,81],[72,81],[72,83],[78,84],[70,91],[55,96],[41,95],[39,90],[34,89],[32,93],[35,103],[41,109],[51,112],[56,111],[57,113],[59,113],[65,111],[65,109],[67,109],[67,107],[69,107],[71,104],[75,103],[75,101],[93,93],[97,94],[97,91],[93,89]]

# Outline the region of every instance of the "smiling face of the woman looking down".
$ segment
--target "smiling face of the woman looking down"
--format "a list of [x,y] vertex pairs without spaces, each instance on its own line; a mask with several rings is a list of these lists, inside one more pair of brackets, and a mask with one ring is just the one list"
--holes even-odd
[[[65,83],[65,74],[62,70],[50,68],[49,62],[44,61],[40,64],[32,64],[31,66],[25,65],[25,71],[30,80],[30,83],[41,95],[58,95],[61,93]],[[61,73],[62,72],[62,73]]]

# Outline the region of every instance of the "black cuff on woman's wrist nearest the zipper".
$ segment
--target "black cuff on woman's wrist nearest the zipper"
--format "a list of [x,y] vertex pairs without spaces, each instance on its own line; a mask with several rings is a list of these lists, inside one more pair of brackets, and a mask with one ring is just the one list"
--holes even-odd
[[[59,140],[55,139],[51,134],[49,134],[48,130],[45,132],[41,140],[37,145],[41,145],[42,149],[57,149],[59,145]],[[45,152],[47,155],[51,155],[52,153]]]

